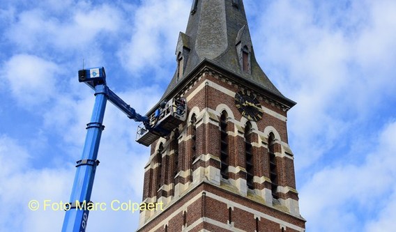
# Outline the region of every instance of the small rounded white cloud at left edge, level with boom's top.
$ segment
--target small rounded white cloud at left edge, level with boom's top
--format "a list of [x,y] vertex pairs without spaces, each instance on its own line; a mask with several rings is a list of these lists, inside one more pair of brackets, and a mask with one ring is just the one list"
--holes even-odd
[[52,98],[55,91],[59,66],[38,56],[16,54],[7,61],[2,70],[2,79],[7,80],[13,97],[21,105],[39,105]]

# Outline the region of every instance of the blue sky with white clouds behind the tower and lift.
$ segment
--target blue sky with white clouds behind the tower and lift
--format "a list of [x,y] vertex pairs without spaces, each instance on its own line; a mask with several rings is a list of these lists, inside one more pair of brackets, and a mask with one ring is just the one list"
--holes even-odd
[[[284,95],[307,231],[383,231],[396,218],[396,2],[245,0],[257,59]],[[77,70],[105,66],[144,114],[176,69],[189,0],[1,1],[0,231],[59,231],[93,107]],[[108,105],[92,200],[142,199],[149,150]],[[91,212],[89,231],[139,215]]]

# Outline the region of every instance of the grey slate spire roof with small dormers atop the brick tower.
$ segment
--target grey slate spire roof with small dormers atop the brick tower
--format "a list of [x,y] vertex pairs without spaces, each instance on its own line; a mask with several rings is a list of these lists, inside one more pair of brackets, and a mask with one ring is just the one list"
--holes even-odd
[[284,98],[254,57],[242,0],[193,0],[187,29],[179,34],[176,60],[182,67],[178,67],[163,98],[204,60]]

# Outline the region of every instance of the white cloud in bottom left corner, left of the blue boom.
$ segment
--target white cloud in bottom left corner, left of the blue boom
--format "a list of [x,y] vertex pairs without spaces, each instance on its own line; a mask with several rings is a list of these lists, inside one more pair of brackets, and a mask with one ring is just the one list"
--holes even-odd
[[[51,210],[32,211],[28,208],[31,200],[66,199],[71,185],[71,169],[61,165],[54,169],[33,169],[24,146],[15,139],[0,136],[0,228],[7,231],[54,231],[61,229],[64,212]],[[74,170],[73,170],[74,171]]]

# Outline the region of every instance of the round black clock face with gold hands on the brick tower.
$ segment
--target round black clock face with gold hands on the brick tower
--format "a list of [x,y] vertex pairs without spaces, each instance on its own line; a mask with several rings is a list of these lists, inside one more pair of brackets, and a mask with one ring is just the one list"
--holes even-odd
[[249,91],[239,91],[235,94],[235,106],[242,116],[250,121],[259,121],[263,118],[263,109],[254,95]]

